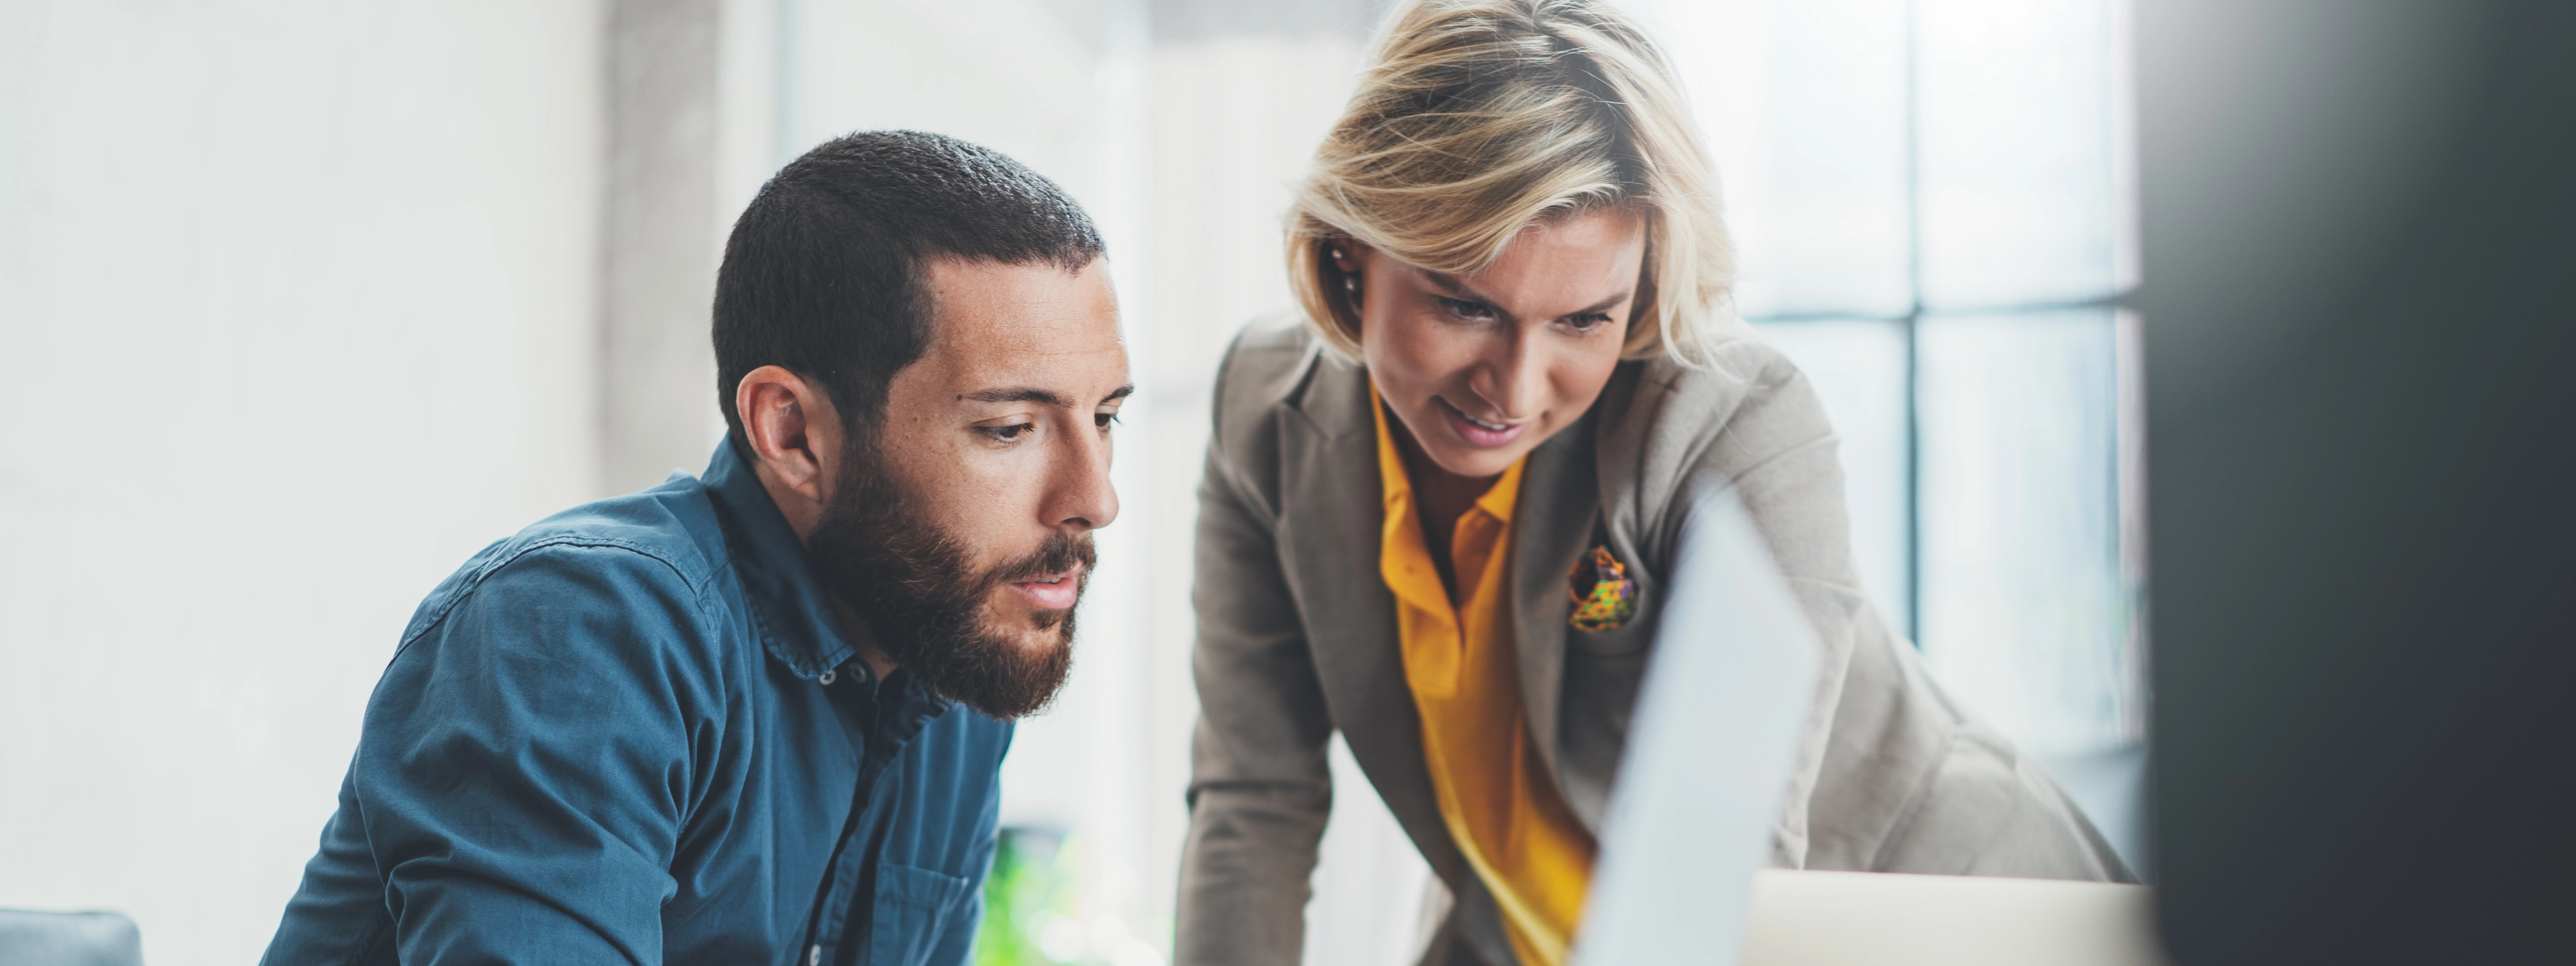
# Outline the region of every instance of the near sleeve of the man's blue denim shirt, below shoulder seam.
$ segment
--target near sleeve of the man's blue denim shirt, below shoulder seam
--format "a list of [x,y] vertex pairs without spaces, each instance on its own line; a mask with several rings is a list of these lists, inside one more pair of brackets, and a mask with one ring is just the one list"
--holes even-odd
[[659,559],[549,544],[404,641],[350,775],[404,963],[662,961],[708,636]]

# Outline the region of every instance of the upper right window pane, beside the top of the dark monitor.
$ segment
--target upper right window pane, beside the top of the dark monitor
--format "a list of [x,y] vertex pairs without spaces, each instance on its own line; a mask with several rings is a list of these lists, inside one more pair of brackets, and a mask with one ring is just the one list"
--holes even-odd
[[2117,0],[1919,0],[1922,286],[1935,309],[2120,283]]

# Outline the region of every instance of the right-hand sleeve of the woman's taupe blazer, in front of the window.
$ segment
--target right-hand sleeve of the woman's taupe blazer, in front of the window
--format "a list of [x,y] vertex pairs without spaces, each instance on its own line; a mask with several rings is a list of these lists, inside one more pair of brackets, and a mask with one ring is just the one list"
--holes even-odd
[[1775,863],[2136,881],[2081,809],[1958,708],[1860,592],[1837,435],[1806,376],[1762,343],[1736,343],[1728,363],[1747,392],[1682,492],[1734,487],[1824,647]]

